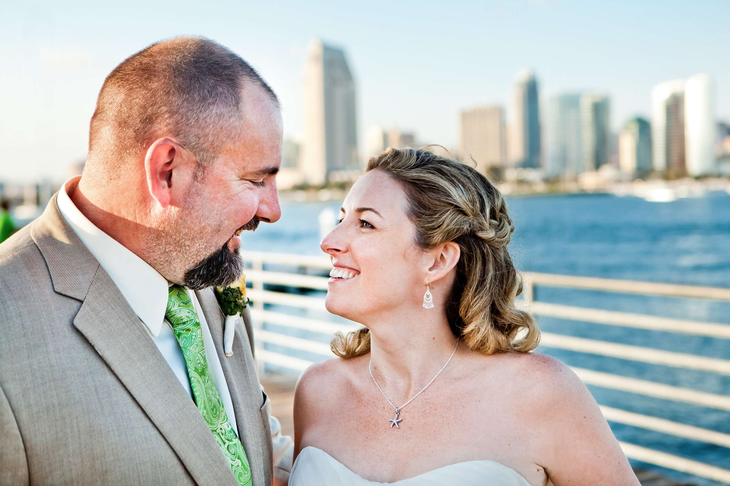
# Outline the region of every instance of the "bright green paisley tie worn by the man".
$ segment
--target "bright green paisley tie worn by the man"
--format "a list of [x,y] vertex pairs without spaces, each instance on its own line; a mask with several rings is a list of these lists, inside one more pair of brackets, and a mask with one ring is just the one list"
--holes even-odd
[[228,420],[218,389],[215,388],[215,382],[213,382],[213,376],[205,358],[200,321],[198,321],[198,315],[188,291],[182,286],[170,287],[165,317],[172,324],[172,331],[177,337],[177,342],[180,343],[180,349],[183,350],[185,362],[188,364],[188,377],[190,377],[195,404],[210,427],[215,442],[218,442],[220,450],[231,464],[231,470],[238,484],[250,486],[252,484],[251,468],[248,465],[246,452]]

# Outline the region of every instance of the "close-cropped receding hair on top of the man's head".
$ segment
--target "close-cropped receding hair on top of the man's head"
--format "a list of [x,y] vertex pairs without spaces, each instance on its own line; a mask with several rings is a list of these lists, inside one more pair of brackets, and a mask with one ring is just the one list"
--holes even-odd
[[250,64],[210,39],[178,37],[146,47],[120,63],[101,87],[87,168],[113,177],[148,144],[170,136],[195,155],[200,173],[240,128],[248,85],[260,87],[278,106]]

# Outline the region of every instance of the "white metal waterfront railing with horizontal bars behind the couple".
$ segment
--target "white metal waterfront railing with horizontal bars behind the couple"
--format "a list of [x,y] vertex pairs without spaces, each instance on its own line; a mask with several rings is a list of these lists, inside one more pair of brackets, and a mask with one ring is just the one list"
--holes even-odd
[[[327,277],[322,276],[322,270],[331,269],[331,263],[326,256],[299,256],[291,254],[271,254],[264,252],[245,252],[243,254],[250,263],[250,270],[246,271],[247,281],[252,286],[248,290],[248,297],[253,301],[252,315],[257,323],[270,323],[285,326],[289,329],[299,329],[307,332],[331,335],[334,332],[347,332],[359,326],[350,321],[324,321],[321,319],[277,313],[264,309],[264,304],[283,305],[299,309],[326,313],[323,297],[312,297],[301,294],[291,294],[281,291],[265,290],[264,284],[296,287],[312,290],[326,290]],[[264,264],[274,265],[276,271],[264,270]],[[283,270],[282,270],[283,269]],[[289,271],[286,271],[289,270]],[[319,273],[319,275],[311,275]],[[308,274],[309,273],[309,274]],[[730,339],[730,325],[715,324],[698,321],[688,321],[675,318],[664,318],[654,315],[637,313],[623,313],[611,310],[589,309],[570,305],[558,305],[549,302],[539,302],[534,299],[535,286],[564,287],[569,289],[583,289],[594,291],[608,291],[618,294],[641,294],[664,297],[684,297],[693,299],[713,299],[730,302],[730,289],[702,286],[674,285],[666,283],[650,283],[639,281],[621,281],[603,278],[573,277],[568,275],[549,275],[544,273],[524,273],[523,275],[523,304],[531,313],[553,318],[564,318],[596,324],[625,326],[637,329],[661,330],[680,334],[694,334],[703,337]],[[634,345],[623,345],[615,342],[591,340],[581,337],[566,336],[542,332],[541,344],[551,348],[580,351],[600,356],[610,356],[631,361],[639,361],[662,366],[694,369],[711,372],[718,375],[730,375],[730,361],[720,358],[707,358],[688,353],[675,353],[653,348],[644,348]],[[301,372],[313,361],[289,356],[285,353],[275,353],[264,348],[264,343],[278,345],[296,351],[304,351],[315,356],[331,358],[329,345],[303,337],[294,337],[258,327],[255,331],[256,350],[261,364],[269,363],[278,367]],[[572,367],[584,383],[602,388],[637,393],[659,399],[680,401],[683,403],[709,407],[730,412],[730,396],[715,393],[706,393],[664,385],[648,380],[639,380],[608,372],[598,372],[591,369]],[[730,434],[711,431],[705,428],[689,426],[672,420],[642,415],[627,410],[601,406],[604,417],[616,423],[645,428],[670,434],[686,439],[692,439],[707,444],[716,444],[730,448]],[[730,484],[730,470],[721,469],[707,463],[689,460],[677,455],[667,454],[658,450],[641,447],[637,444],[620,442],[623,451],[629,458],[652,463],[656,466],[695,474],[699,477],[713,479]]]

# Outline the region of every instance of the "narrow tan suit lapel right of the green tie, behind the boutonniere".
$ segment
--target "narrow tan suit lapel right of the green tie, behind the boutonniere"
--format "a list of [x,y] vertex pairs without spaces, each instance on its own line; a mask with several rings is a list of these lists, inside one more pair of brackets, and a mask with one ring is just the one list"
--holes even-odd
[[[196,291],[201,310],[215,343],[223,376],[226,377],[228,391],[236,414],[238,436],[241,440],[248,463],[251,466],[254,485],[269,485],[272,477],[272,460],[270,450],[271,434],[268,422],[265,423],[264,436],[261,431],[261,404],[264,401],[261,385],[258,383],[256,364],[253,360],[248,336],[242,326],[236,327],[233,342],[233,356],[223,352],[223,324],[225,315],[220,310],[218,300],[212,289]],[[266,436],[266,434],[269,434]],[[267,449],[268,448],[268,449]]]

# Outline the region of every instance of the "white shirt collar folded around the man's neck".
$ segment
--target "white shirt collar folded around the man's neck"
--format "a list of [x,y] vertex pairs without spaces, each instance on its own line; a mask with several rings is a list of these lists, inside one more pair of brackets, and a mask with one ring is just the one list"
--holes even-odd
[[81,176],[72,177],[61,187],[58,192],[58,210],[88,251],[107,271],[134,313],[150,330],[150,334],[158,337],[167,309],[168,281],[145,260],[99,230],[79,211],[68,191],[77,187],[80,180]]

